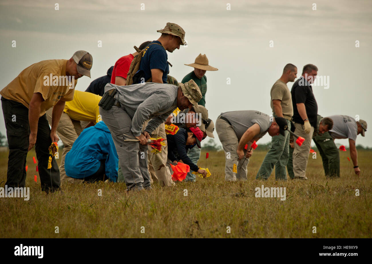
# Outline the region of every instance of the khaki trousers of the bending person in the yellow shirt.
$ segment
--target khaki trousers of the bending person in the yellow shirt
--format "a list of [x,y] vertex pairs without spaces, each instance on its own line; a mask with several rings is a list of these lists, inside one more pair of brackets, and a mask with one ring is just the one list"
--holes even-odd
[[[52,111],[53,107],[46,112],[50,126],[52,126]],[[83,181],[80,179],[68,177],[65,173],[66,154],[68,153],[68,151],[71,150],[72,145],[74,144],[77,137],[80,135],[81,131],[83,131],[83,129],[81,128],[80,121],[73,120],[65,112],[62,112],[61,119],[57,127],[57,135],[60,137],[64,144],[60,165],[61,184],[63,183],[63,181],[68,181],[70,183],[81,183]]]

